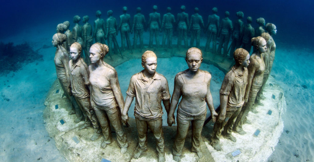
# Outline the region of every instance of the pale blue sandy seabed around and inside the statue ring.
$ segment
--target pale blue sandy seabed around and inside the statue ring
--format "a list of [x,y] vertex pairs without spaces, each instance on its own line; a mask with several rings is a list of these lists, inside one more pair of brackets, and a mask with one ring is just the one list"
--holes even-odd
[[[60,155],[54,140],[49,137],[43,124],[42,111],[45,108],[46,94],[57,78],[53,63],[56,49],[53,47],[42,48],[44,45],[51,46],[51,38],[54,34],[51,24],[43,24],[38,28],[51,29],[52,32],[31,29],[1,40],[5,43],[14,42],[14,44],[28,42],[34,50],[40,49],[39,53],[44,56],[44,61],[24,64],[19,71],[0,77],[0,117],[3,122],[0,128],[0,161],[67,161]],[[117,38],[119,39],[120,36]],[[147,44],[148,32],[145,33],[144,38],[146,38],[144,43]],[[161,40],[160,37],[160,42]],[[276,36],[274,40],[276,41]],[[173,43],[176,43],[175,39]],[[201,46],[204,46],[205,43],[206,40],[202,39]],[[314,110],[312,102],[314,99],[312,94],[314,93],[314,74],[311,69],[314,68],[312,63],[314,56],[310,49],[298,49],[279,41],[276,41],[276,44],[276,58],[271,75],[284,89],[287,112],[283,115],[284,132],[268,160],[313,161]],[[171,59],[184,62],[182,58]],[[124,98],[130,77],[142,70],[138,60],[131,60],[125,64],[127,63],[134,63],[134,68],[125,69],[124,64],[116,67]],[[164,67],[171,70],[162,71]],[[182,66],[171,66],[163,63],[163,59],[158,59],[157,72],[166,76],[171,94],[175,74],[186,68],[185,63]],[[201,69],[208,70],[212,74],[211,91],[214,106],[217,107],[219,105],[219,89],[224,74],[213,65],[202,64]],[[122,71],[126,75],[123,75]],[[129,115],[133,114],[131,113],[132,108],[133,105]]]

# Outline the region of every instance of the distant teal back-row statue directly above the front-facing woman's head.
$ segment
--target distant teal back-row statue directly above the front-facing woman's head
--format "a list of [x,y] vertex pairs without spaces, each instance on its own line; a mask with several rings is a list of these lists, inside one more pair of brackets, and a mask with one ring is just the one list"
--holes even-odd
[[191,29],[191,42],[190,46],[194,46],[194,39],[196,41],[196,47],[199,48],[201,29],[204,27],[204,21],[201,15],[198,14],[199,9],[194,8],[194,14],[191,16],[191,21],[189,24],[189,28]]

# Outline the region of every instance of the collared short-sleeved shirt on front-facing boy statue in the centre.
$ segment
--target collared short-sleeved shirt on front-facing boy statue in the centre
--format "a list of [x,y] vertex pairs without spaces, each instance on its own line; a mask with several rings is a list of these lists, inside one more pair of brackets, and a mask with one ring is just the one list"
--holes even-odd
[[144,78],[143,71],[132,76],[127,95],[135,97],[134,116],[152,121],[162,117],[162,99],[170,99],[167,79],[155,72],[153,78]]

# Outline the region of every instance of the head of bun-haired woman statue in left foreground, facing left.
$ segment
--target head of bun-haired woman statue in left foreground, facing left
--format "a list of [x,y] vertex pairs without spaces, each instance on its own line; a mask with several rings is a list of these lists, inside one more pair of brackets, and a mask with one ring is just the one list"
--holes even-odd
[[91,63],[98,63],[109,52],[109,48],[106,44],[95,43],[89,49],[89,58]]

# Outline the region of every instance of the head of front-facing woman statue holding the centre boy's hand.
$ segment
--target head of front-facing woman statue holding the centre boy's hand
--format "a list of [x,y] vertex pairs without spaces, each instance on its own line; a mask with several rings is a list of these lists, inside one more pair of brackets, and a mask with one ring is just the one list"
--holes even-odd
[[189,48],[185,54],[185,60],[189,70],[193,72],[198,71],[203,61],[202,51],[195,47]]

